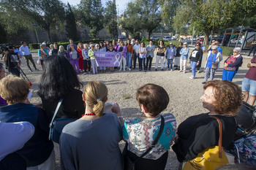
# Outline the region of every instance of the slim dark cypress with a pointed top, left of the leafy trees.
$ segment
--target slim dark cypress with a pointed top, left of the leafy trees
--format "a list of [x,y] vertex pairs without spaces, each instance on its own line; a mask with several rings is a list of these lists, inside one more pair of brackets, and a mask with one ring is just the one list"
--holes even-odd
[[72,12],[70,4],[67,2],[67,9],[65,11],[65,19],[66,19],[66,31],[69,39],[73,39],[74,41],[78,40],[78,32],[77,26],[75,23],[75,15]]

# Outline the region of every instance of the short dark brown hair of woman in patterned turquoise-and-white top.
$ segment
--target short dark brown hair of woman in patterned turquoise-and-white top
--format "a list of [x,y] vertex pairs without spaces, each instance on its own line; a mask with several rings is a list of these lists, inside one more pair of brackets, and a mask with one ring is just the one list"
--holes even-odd
[[143,104],[147,112],[156,117],[169,104],[169,96],[164,88],[159,85],[146,84],[137,90],[136,98],[138,103]]

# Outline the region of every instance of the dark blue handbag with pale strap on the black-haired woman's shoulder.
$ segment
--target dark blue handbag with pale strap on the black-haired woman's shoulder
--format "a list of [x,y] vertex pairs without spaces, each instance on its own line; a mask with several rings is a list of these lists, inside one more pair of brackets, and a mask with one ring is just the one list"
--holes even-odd
[[61,136],[62,129],[65,125],[74,122],[75,120],[78,120],[78,118],[58,118],[55,119],[57,112],[59,111],[59,107],[61,106],[62,101],[64,98],[61,98],[59,100],[59,103],[55,109],[53,118],[50,122],[50,133],[49,133],[49,140],[52,139],[53,142],[56,142],[59,144],[59,137]]

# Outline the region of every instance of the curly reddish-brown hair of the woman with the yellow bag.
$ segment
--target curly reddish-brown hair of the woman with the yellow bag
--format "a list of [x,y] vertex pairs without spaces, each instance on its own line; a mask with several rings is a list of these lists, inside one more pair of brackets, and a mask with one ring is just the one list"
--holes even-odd
[[215,111],[219,115],[236,115],[243,100],[241,88],[227,80],[212,80],[208,81],[203,89],[206,90],[210,86],[214,88],[214,97],[217,99],[214,104]]

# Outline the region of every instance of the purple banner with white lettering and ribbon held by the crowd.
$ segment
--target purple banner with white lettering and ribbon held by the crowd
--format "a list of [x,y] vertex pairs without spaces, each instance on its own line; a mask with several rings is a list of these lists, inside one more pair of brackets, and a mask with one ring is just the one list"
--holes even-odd
[[120,66],[121,52],[94,52],[97,66]]

